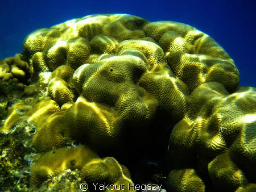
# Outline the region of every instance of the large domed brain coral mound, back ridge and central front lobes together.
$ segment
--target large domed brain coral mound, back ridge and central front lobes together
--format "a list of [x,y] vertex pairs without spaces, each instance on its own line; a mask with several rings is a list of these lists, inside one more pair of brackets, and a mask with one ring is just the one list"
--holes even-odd
[[[60,106],[73,102],[72,86],[80,95],[66,112],[39,126],[34,141],[43,151],[65,140],[100,149],[115,147],[125,134],[166,137],[183,118],[188,90],[217,81],[234,91],[239,82],[233,60],[209,36],[185,24],[133,15],[90,15],[36,30],[23,52],[31,72],[53,70],[48,94]],[[69,80],[55,75],[64,69]],[[159,123],[165,131],[152,131]]]

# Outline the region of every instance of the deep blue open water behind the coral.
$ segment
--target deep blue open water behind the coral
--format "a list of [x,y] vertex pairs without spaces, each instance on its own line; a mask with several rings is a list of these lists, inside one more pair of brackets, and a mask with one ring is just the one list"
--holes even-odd
[[256,1],[14,1],[0,0],[0,60],[22,53],[24,38],[90,14],[125,13],[150,21],[174,20],[213,37],[235,61],[241,86],[256,87]]

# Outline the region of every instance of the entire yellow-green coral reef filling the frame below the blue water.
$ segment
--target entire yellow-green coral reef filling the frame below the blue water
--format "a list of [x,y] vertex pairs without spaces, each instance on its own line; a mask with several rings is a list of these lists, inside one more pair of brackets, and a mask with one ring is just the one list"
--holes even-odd
[[183,23],[98,14],[31,32],[0,61],[0,186],[256,190],[256,88],[239,81]]

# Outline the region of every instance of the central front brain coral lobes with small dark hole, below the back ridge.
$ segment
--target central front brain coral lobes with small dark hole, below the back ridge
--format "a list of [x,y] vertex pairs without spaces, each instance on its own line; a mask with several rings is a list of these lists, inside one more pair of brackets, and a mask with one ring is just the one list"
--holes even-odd
[[[156,61],[165,61],[163,55],[158,57]],[[97,64],[80,66],[73,75],[80,97],[39,128],[34,137],[36,147],[45,151],[60,147],[64,140],[78,140],[98,150],[115,149],[125,139],[124,134],[141,137],[150,133],[150,124],[157,120],[162,131],[154,131],[154,135],[168,133],[168,119],[175,124],[183,118],[187,87],[168,65],[151,65],[143,52],[126,49],[121,55],[102,56]],[[58,141],[56,137],[63,139],[53,144]],[[52,144],[47,146],[48,142]]]

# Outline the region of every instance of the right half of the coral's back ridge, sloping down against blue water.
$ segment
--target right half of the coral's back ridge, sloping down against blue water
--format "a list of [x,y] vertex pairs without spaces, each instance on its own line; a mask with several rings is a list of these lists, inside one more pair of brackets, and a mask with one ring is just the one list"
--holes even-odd
[[146,34],[163,48],[169,66],[193,91],[204,82],[220,82],[230,92],[236,90],[239,73],[234,61],[211,37],[177,22],[152,22]]

